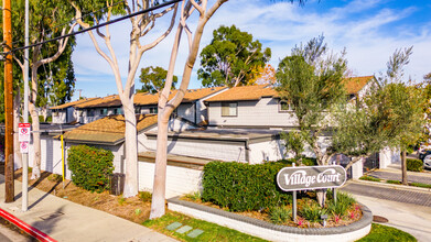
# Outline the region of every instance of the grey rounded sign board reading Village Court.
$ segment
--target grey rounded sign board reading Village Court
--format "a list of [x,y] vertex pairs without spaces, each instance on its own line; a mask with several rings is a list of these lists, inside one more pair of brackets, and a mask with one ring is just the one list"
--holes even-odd
[[284,191],[334,188],[346,182],[343,166],[284,167],[277,174],[277,184]]

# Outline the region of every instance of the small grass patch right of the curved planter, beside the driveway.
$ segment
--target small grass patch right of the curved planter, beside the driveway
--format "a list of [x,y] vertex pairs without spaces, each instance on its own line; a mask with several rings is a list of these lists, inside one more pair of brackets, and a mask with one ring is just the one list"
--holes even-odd
[[392,227],[381,226],[378,223],[373,223],[371,231],[368,235],[358,240],[357,242],[368,242],[368,241],[379,241],[379,242],[389,242],[389,241],[417,241],[414,237],[410,233],[403,232],[399,229]]

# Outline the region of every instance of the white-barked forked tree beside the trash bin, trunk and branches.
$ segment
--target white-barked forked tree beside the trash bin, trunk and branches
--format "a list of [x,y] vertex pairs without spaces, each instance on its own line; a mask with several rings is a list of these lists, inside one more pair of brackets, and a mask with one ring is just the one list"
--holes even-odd
[[[193,1],[194,2],[194,1]],[[73,7],[76,11],[76,20],[78,24],[88,29],[94,23],[98,24],[101,20],[111,20],[114,14],[132,14],[149,8],[155,7],[159,4],[159,1],[153,0],[142,0],[142,1],[120,1],[112,3],[111,1],[73,1]],[[134,114],[133,107],[133,97],[134,97],[134,76],[138,70],[139,63],[142,58],[143,53],[153,48],[161,41],[163,41],[169,33],[171,33],[174,25],[174,20],[177,13],[179,3],[171,4],[168,8],[162,10],[149,11],[143,14],[138,14],[130,16],[131,32],[130,38],[128,40],[129,44],[129,68],[127,70],[126,81],[123,85],[123,79],[120,75],[120,69],[118,65],[118,59],[116,52],[112,48],[110,37],[111,33],[109,31],[109,25],[105,26],[105,33],[100,29],[96,29],[96,34],[100,37],[101,42],[108,50],[108,53],[104,52],[100,48],[98,40],[94,31],[88,31],[88,34],[93,41],[93,44],[97,53],[109,64],[115,76],[117,90],[119,98],[121,100],[122,110],[125,113],[126,120],[126,131],[125,131],[125,146],[126,146],[126,182],[125,182],[125,197],[132,197],[138,194],[138,135],[137,135],[137,120]],[[97,11],[96,14],[86,14],[88,12],[94,12],[94,10],[104,9],[104,11]],[[147,34],[154,29],[155,21],[168,13],[172,12],[171,21],[165,31],[159,35],[155,40],[148,40],[148,44],[141,44],[141,38],[147,36]],[[83,18],[84,16],[84,18]]]

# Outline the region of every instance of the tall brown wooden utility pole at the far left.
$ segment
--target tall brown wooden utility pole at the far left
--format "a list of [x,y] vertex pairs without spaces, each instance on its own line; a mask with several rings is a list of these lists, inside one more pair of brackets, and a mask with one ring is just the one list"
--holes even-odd
[[12,12],[11,0],[3,0],[3,40],[6,41],[4,53],[4,202],[14,199],[13,179],[13,87],[12,87]]

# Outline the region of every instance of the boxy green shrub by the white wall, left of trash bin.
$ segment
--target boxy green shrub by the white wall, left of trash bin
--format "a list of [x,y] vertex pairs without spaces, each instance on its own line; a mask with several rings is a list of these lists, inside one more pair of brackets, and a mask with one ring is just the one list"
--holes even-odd
[[72,180],[86,190],[101,193],[109,188],[109,175],[112,174],[114,155],[111,151],[87,145],[72,146],[67,164]]

